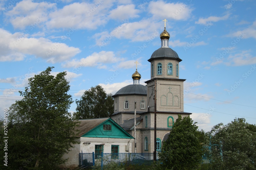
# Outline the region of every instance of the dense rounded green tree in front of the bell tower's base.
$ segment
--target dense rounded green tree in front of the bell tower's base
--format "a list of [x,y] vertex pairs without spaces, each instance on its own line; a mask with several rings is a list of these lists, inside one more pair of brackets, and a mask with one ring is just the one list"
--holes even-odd
[[202,161],[202,146],[198,140],[196,122],[189,116],[178,119],[170,131],[168,139],[163,142],[159,153],[161,169],[196,169]]

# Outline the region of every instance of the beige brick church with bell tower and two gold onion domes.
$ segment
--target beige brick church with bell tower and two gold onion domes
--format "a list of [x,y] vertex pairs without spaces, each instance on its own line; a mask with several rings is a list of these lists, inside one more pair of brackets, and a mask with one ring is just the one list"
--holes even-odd
[[[111,115],[117,124],[134,137],[134,111],[136,102],[136,152],[154,152],[154,99],[156,99],[156,150],[161,151],[162,142],[168,138],[173,123],[178,118],[192,113],[184,112],[183,82],[179,79],[179,62],[182,59],[169,47],[170,34],[160,34],[161,47],[154,51],[150,62],[151,79],[146,86],[140,84],[141,74],[132,74],[133,84],[116,92],[114,113]],[[156,82],[156,87],[155,87]],[[155,94],[156,88],[156,96]],[[133,141],[134,142],[134,141]],[[135,151],[132,143],[132,151]]]

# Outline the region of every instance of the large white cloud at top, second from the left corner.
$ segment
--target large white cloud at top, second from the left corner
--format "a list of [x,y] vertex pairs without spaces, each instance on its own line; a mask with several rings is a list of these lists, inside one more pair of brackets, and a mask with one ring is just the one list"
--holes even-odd
[[105,1],[72,3],[50,13],[46,25],[48,28],[96,29],[108,22],[107,13],[111,6],[112,2]]

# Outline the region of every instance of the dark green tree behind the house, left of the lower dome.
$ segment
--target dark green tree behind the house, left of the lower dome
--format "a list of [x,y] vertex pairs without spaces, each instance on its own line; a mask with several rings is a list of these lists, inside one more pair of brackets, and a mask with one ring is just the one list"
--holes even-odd
[[109,117],[114,113],[114,99],[112,94],[106,94],[97,85],[84,92],[80,100],[76,100],[77,108],[73,113],[74,119],[93,119]]

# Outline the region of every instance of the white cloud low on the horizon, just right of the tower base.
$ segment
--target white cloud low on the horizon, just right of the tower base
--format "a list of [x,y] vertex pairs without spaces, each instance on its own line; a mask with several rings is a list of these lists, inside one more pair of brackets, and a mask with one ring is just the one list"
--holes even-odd
[[211,114],[207,113],[192,113],[190,115],[190,118],[197,122],[198,130],[203,129],[205,132],[208,132],[211,130]]

